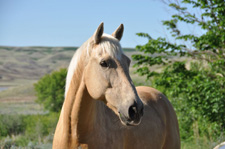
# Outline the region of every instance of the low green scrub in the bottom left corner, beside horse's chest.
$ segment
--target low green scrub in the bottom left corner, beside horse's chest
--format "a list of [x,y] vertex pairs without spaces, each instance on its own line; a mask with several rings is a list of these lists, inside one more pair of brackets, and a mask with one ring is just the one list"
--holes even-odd
[[59,113],[0,115],[0,146],[24,147],[28,143],[52,142]]

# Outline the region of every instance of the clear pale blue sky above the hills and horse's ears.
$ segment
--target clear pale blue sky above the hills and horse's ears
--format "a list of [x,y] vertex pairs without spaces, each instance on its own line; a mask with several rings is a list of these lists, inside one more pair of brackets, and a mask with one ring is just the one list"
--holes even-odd
[[111,34],[124,24],[122,47],[165,36],[171,14],[160,0],[0,0],[0,46],[81,46],[99,24]]

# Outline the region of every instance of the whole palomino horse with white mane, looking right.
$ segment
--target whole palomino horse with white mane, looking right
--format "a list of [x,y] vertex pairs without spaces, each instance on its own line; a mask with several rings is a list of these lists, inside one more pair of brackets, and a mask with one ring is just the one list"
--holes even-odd
[[179,149],[175,111],[158,90],[135,87],[123,53],[121,24],[112,35],[103,23],[75,52],[53,149]]

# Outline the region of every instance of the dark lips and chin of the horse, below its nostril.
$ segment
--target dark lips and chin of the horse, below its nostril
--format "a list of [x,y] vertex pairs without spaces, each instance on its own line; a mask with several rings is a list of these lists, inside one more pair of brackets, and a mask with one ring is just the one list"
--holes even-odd
[[122,113],[119,113],[120,121],[125,126],[137,126],[141,123],[141,116],[137,116],[134,120],[127,118]]

